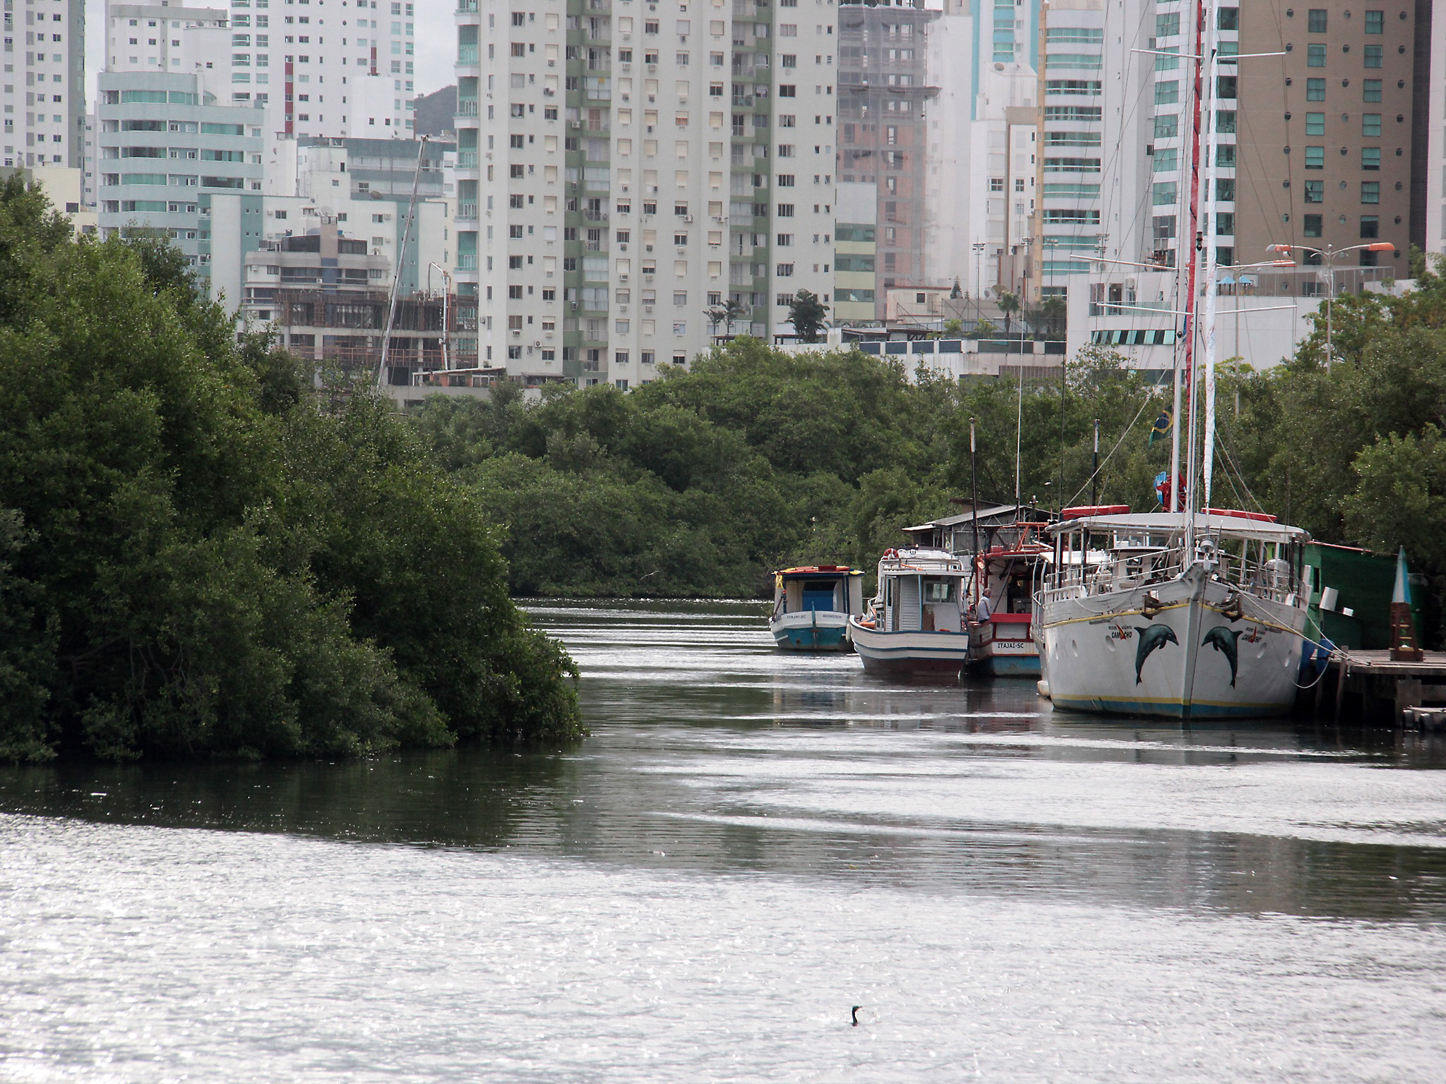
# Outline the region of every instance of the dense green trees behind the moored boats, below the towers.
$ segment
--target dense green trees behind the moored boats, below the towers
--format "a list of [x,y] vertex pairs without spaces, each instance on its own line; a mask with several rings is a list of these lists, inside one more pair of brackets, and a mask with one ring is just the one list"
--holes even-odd
[[[1392,552],[1430,577],[1440,639],[1446,585],[1446,280],[1401,298],[1338,301],[1323,327],[1262,373],[1220,364],[1215,503],[1274,512],[1332,542]],[[1170,442],[1150,429],[1170,389],[1086,348],[1063,383],[910,382],[857,353],[790,357],[736,340],[623,393],[503,384],[492,402],[431,399],[416,418],[440,463],[506,525],[518,594],[753,595],[781,564],[872,568],[907,523],[969,494],[1087,502],[1100,419],[1102,502],[1158,507]],[[1063,497],[1063,499],[1061,499]]]

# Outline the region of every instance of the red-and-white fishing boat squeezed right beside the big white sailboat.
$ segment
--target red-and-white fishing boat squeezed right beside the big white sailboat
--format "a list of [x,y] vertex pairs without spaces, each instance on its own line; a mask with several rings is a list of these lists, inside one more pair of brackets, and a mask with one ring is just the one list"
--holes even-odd
[[[969,669],[991,678],[1038,678],[1034,595],[1048,571],[1047,523],[1015,523],[975,558],[970,581]],[[980,600],[985,606],[980,607]]]

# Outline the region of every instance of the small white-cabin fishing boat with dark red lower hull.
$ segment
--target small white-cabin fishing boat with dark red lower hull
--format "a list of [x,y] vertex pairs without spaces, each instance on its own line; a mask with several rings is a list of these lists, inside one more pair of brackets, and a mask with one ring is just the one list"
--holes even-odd
[[879,590],[849,637],[863,669],[957,679],[969,662],[969,565],[947,549],[889,549]]

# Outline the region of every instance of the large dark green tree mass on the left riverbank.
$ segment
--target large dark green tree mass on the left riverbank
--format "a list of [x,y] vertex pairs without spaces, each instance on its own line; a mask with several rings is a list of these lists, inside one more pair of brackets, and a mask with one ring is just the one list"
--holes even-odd
[[0,759],[576,736],[505,575],[414,426],[0,188]]

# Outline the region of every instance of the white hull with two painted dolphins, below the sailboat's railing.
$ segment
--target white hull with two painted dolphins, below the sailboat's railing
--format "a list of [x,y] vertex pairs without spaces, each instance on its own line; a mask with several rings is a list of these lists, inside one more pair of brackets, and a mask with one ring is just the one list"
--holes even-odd
[[1144,587],[1041,597],[1056,707],[1177,720],[1255,718],[1294,707],[1303,608],[1238,593],[1197,569],[1148,590],[1158,600],[1158,608],[1150,600],[1148,614]]

